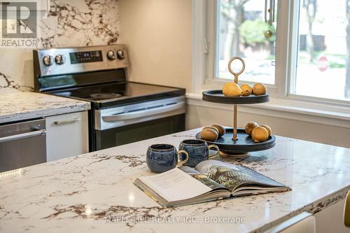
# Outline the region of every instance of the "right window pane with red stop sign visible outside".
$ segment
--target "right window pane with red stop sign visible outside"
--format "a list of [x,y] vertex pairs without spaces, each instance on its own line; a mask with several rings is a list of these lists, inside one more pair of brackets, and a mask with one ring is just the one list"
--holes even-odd
[[350,98],[349,4],[350,0],[300,0],[293,94]]

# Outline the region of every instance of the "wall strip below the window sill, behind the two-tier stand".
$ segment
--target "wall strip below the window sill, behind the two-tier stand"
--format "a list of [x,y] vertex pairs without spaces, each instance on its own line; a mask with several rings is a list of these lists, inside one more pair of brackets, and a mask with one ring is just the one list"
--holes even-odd
[[[188,105],[187,111],[186,128],[188,129],[212,124],[232,127],[233,124],[233,111],[194,105]],[[350,148],[349,128],[320,124],[317,123],[319,118],[316,117],[314,122],[307,122],[267,116],[259,109],[254,111],[256,113],[239,111],[238,127],[244,127],[246,122],[255,121],[260,125],[269,125],[272,127],[272,133],[276,135]]]

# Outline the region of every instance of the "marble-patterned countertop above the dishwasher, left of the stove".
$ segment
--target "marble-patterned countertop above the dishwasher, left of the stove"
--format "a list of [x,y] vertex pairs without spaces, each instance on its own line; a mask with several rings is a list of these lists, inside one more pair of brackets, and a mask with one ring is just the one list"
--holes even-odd
[[37,92],[0,95],[0,123],[90,109],[90,102]]

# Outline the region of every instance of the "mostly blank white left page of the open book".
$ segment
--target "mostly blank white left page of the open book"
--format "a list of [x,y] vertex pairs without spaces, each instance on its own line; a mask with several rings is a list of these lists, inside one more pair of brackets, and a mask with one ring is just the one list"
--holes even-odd
[[211,191],[207,185],[178,168],[155,176],[140,177],[139,180],[162,196],[167,202],[197,197]]

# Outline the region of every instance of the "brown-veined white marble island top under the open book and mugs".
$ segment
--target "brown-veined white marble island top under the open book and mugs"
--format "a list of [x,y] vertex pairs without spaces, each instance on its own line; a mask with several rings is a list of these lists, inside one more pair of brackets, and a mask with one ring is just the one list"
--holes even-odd
[[349,148],[281,136],[270,150],[225,160],[274,178],[289,192],[165,208],[133,185],[152,175],[148,145],[179,146],[198,131],[0,174],[0,232],[263,232],[302,211],[317,213],[350,189]]

